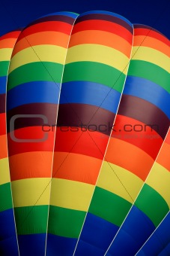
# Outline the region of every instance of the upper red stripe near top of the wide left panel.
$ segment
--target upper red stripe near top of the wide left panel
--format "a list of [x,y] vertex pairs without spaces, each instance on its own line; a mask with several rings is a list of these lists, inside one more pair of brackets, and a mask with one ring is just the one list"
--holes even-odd
[[25,38],[27,35],[43,31],[56,31],[70,35],[71,29],[72,26],[70,24],[60,21],[48,21],[45,23],[37,23],[34,26],[29,26],[28,28],[24,29],[24,31],[19,36],[18,41],[22,38]]

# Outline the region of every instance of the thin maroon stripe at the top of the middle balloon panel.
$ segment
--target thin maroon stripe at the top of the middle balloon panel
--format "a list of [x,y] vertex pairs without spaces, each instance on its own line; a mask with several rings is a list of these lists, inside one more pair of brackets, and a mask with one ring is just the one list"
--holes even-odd
[[117,23],[121,26],[124,26],[124,28],[126,28],[127,30],[129,30],[132,34],[133,34],[133,27],[130,26],[128,23],[126,23],[126,21],[119,19],[118,17],[114,17],[112,15],[109,14],[87,14],[85,16],[82,17],[78,17],[76,19],[76,23],[80,23],[82,21],[85,20],[106,20],[106,21],[111,21],[113,23]]

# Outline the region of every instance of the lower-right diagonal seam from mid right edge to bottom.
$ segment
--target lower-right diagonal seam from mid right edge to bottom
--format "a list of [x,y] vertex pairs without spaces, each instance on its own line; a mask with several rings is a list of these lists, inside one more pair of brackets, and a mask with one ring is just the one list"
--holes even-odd
[[[167,133],[166,133],[166,137],[167,137],[168,133],[169,133],[169,130],[168,130]],[[163,144],[165,143],[166,137],[165,137],[165,139],[164,139],[164,141],[163,141]],[[151,166],[151,170],[150,170],[150,172],[148,172],[148,175],[147,175],[147,177],[145,178],[145,181],[144,181],[144,183],[142,184],[142,187],[141,187],[141,189],[139,190],[139,193],[137,194],[136,199],[134,200],[132,206],[130,207],[129,212],[127,212],[127,215],[126,215],[126,217],[124,218],[124,221],[122,222],[121,226],[119,227],[117,233],[115,234],[114,239],[112,239],[112,242],[110,243],[109,248],[111,248],[112,243],[114,242],[116,236],[118,236],[118,233],[119,233],[119,231],[121,230],[121,227],[124,225],[124,222],[126,221],[126,219],[127,219],[128,215],[130,214],[131,210],[133,209],[133,206],[135,205],[136,200],[138,199],[139,194],[141,193],[142,188],[144,187],[144,185],[145,185],[145,183],[146,183],[146,181],[147,181],[147,179],[148,179],[148,176],[150,175],[150,173],[151,173],[151,171],[152,171],[152,169],[153,169],[153,167],[154,167],[154,164],[157,162],[157,158],[159,157],[160,151],[161,151],[161,149],[163,148],[163,144],[161,145],[160,150],[158,151],[157,157],[156,157],[156,159],[154,160],[154,163],[153,163],[153,165]],[[106,253],[109,251],[109,248],[107,249]],[[104,256],[106,255],[106,253],[104,254]]]

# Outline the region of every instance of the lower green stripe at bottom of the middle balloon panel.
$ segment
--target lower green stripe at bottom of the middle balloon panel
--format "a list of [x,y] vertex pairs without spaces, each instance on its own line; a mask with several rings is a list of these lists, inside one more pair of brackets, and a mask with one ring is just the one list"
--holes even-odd
[[48,233],[78,238],[85,219],[85,212],[50,206]]

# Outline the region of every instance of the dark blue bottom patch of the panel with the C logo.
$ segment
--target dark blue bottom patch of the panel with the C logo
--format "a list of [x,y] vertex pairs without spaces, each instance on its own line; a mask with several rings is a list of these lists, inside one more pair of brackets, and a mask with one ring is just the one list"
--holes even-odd
[[44,255],[46,233],[19,235],[18,242],[19,242],[20,255],[24,255],[24,256]]

